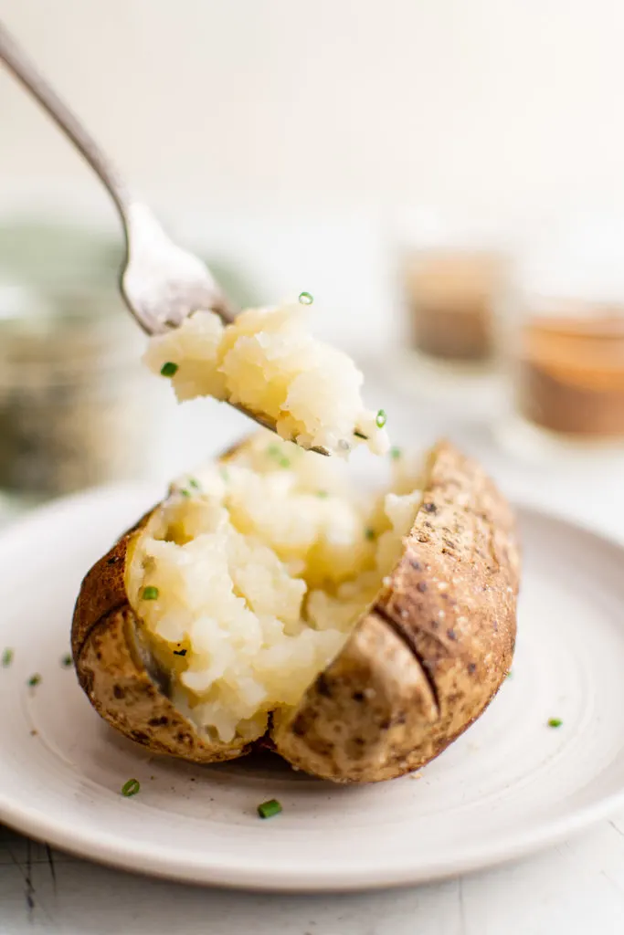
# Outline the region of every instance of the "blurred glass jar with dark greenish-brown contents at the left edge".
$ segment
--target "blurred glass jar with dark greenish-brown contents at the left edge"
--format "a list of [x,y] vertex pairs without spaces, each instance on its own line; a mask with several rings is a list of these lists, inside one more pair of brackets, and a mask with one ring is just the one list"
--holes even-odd
[[146,457],[132,323],[96,314],[93,296],[57,299],[20,291],[15,315],[0,290],[0,489],[32,499],[140,476]]

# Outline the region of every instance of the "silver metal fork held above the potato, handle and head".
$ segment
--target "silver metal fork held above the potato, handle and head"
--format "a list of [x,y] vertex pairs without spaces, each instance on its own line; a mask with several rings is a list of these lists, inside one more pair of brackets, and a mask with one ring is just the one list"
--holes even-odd
[[[148,335],[163,334],[178,327],[198,309],[217,312],[225,324],[232,322],[235,310],[209,268],[195,254],[182,250],[167,237],[152,211],[130,192],[94,137],[40,74],[2,22],[0,60],[33,94],[108,189],[122,219],[125,237],[121,291],[141,328]],[[273,432],[276,430],[275,422],[267,415],[232,405],[254,422]],[[312,451],[329,453],[325,448]]]

